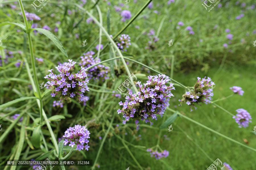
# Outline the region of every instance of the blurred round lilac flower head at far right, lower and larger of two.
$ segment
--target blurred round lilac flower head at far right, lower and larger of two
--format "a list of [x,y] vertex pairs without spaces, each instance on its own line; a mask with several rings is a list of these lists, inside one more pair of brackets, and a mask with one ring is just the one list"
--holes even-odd
[[236,123],[238,123],[238,127],[241,128],[242,126],[244,128],[249,126],[249,122],[251,122],[251,115],[248,113],[245,109],[237,109],[236,116],[233,116],[233,118],[236,120]]

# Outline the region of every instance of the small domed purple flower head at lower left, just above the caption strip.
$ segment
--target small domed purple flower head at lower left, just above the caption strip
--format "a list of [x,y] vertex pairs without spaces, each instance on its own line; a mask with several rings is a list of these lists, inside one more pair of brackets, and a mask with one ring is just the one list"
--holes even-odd
[[[69,146],[73,148],[74,145],[77,146],[76,150],[88,150],[90,146],[88,146],[88,139],[90,135],[90,131],[86,128],[86,126],[81,125],[75,125],[75,127],[70,127],[65,131],[64,137],[64,145],[67,145],[69,143]],[[84,144],[87,144],[84,146]]]

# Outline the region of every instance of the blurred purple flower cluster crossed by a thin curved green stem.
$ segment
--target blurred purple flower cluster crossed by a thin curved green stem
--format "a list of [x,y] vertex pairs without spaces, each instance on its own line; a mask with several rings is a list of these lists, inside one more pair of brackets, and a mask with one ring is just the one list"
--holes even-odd
[[[100,62],[100,58],[93,58],[92,55],[94,55],[95,52],[93,51],[88,51],[81,56],[81,60],[79,65],[83,66],[85,69]],[[108,72],[109,72],[109,67],[106,67],[102,64],[98,64],[88,70],[88,78],[94,79],[94,80],[106,80],[109,79],[108,77]]]

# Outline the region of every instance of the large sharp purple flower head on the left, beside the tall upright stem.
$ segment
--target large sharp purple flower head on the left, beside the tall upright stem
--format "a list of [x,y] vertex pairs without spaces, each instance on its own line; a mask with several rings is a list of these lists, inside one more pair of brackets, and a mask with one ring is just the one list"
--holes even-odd
[[88,100],[88,98],[84,96],[85,91],[90,91],[87,86],[89,80],[85,78],[87,77],[87,74],[85,73],[87,70],[81,66],[80,71],[73,73],[76,62],[71,62],[72,59],[69,59],[69,62],[65,62],[61,66],[58,65],[58,67],[55,67],[60,73],[59,75],[54,74],[52,72],[53,69],[51,69],[48,70],[50,74],[44,77],[50,80],[46,82],[45,86],[49,86],[50,89],[53,90],[51,96],[54,97],[57,95],[59,99],[61,99],[58,102],[71,97],[79,99],[79,103],[86,99]]

